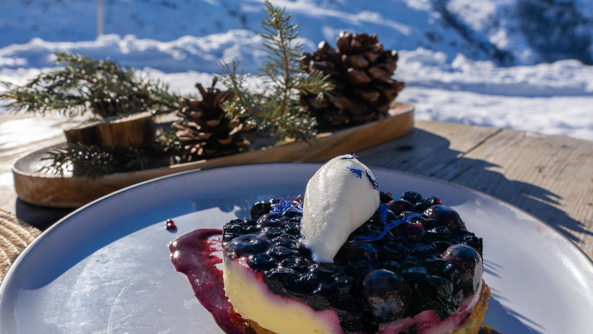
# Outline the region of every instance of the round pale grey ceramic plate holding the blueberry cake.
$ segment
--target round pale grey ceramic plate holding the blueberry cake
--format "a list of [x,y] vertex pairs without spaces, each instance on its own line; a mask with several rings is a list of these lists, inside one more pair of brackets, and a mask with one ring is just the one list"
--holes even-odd
[[[145,182],[77,210],[43,233],[0,287],[0,333],[220,333],[175,272],[167,244],[246,218],[250,204],[302,194],[320,165],[269,164]],[[492,288],[486,323],[507,334],[591,333],[593,265],[533,216],[435,179],[373,169],[382,190],[414,190],[454,207],[484,238]],[[178,231],[163,228],[173,218]]]

